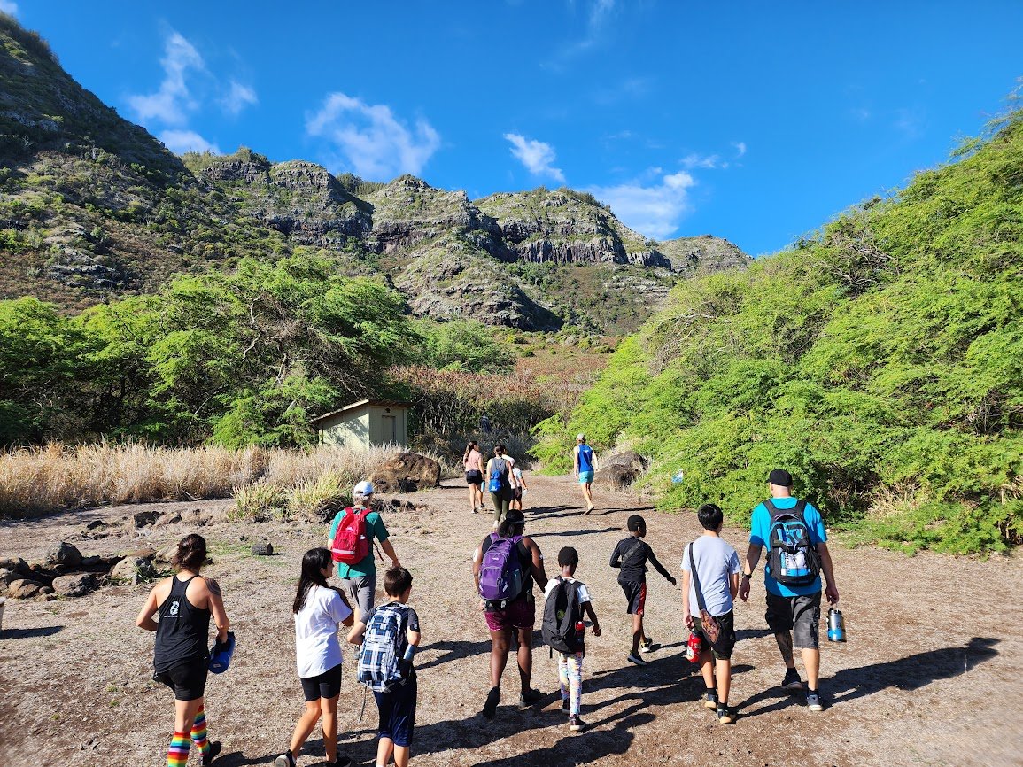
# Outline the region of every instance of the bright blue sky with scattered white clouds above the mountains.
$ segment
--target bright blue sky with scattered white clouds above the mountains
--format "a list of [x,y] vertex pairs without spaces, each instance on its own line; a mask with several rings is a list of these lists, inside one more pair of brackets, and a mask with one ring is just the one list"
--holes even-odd
[[0,0],[172,149],[471,197],[567,184],[753,255],[899,186],[1023,76],[1023,3]]

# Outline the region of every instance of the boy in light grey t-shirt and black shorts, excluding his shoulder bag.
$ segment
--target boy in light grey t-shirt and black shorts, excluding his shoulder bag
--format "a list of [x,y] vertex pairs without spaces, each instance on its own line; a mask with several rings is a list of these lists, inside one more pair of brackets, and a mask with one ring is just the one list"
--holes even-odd
[[[717,709],[717,721],[730,724],[736,716],[728,710],[728,691],[731,686],[731,650],[736,646],[736,621],[732,599],[739,593],[739,574],[742,566],[739,554],[721,540],[719,534],[724,515],[713,503],[705,503],[697,510],[697,518],[704,528],[700,538],[685,547],[682,555],[682,613],[690,631],[700,637],[700,670],[707,685],[704,706]],[[721,634],[711,645],[700,623],[700,600],[697,598],[692,556],[700,579],[707,612],[717,618]],[[716,686],[715,686],[716,677]]]

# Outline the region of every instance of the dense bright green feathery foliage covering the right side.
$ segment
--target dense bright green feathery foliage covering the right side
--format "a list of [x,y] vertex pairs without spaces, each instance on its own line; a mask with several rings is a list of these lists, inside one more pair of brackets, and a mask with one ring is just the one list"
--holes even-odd
[[781,465],[857,540],[1018,544],[1023,110],[791,249],[679,283],[568,427],[541,425],[554,466],[579,431],[651,455],[664,507],[748,518]]

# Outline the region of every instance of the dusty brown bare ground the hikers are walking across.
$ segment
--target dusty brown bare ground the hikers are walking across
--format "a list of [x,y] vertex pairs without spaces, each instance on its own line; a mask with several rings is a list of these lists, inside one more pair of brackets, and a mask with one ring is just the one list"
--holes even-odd
[[[763,580],[756,579],[750,602],[737,610],[731,704],[741,718],[719,726],[698,702],[702,680],[684,659],[680,593],[656,573],[647,623],[665,646],[650,657],[649,668],[625,663],[627,622],[616,571],[607,562],[636,501],[601,494],[597,510],[585,516],[570,479],[536,477],[530,487],[528,534],[549,562],[561,546],[579,549],[578,575],[604,627],[604,636],[588,640],[585,667],[583,717],[594,727],[568,731],[545,648],[534,652],[534,686],[546,693],[542,708],[522,713],[509,705],[518,697],[513,667],[503,685],[507,705],[492,723],[479,715],[489,643],[470,554],[490,521],[469,514],[464,487],[448,481],[416,495],[428,510],[386,518],[415,576],[411,602],[425,631],[413,764],[1023,764],[1023,557],[906,558],[833,545],[849,642],[824,647],[821,688],[832,707],[820,714],[776,687],[784,668],[763,622]],[[128,510],[2,523],[0,554],[32,561],[61,539],[85,554],[128,549],[134,541],[127,534],[82,537],[85,522]],[[648,541],[677,574],[684,544],[699,532],[694,516],[641,513]],[[169,527],[145,542],[159,548],[186,532]],[[209,574],[220,580],[238,638],[230,671],[211,676],[207,687],[211,736],[224,742],[218,763],[268,764],[303,707],[288,605],[302,552],[320,545],[325,530],[267,523],[198,532],[211,542]],[[724,536],[745,550],[744,531],[727,529]],[[250,555],[258,538],[281,553]],[[8,600],[0,638],[0,765],[166,764],[172,695],[150,681],[152,634],[134,627],[145,591],[114,587],[74,600]],[[357,764],[373,765],[375,710],[370,695],[359,722],[362,700],[348,666],[342,750]],[[322,761],[322,742],[310,747],[303,767]],[[198,764],[195,755],[191,763]]]

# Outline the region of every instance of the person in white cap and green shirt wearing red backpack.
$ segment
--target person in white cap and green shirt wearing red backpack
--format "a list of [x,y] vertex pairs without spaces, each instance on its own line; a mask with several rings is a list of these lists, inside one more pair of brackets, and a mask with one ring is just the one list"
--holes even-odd
[[373,539],[380,541],[384,553],[391,557],[391,567],[401,567],[398,554],[388,540],[387,528],[380,513],[371,510],[373,486],[360,482],[352,490],[354,506],[343,508],[330,523],[327,547],[338,563],[338,578],[356,610],[356,618],[369,613],[376,592],[376,562],[373,560]]

